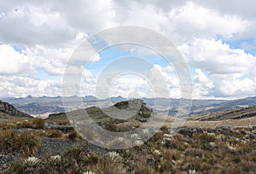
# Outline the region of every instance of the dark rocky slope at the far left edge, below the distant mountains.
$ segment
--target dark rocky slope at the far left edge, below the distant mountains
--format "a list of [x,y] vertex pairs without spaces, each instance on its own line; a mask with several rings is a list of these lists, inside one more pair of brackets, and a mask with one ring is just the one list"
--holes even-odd
[[0,116],[6,117],[8,115],[15,118],[32,118],[30,115],[20,112],[8,102],[0,101]]

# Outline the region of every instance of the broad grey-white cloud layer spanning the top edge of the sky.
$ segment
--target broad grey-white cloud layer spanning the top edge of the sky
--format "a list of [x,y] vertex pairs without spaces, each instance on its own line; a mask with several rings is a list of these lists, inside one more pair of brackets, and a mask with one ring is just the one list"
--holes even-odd
[[176,42],[216,34],[231,38],[256,26],[253,6],[243,3],[247,10],[241,11],[238,4],[232,3],[230,10],[230,3],[212,1],[2,2],[0,39],[15,44],[67,45],[79,32],[91,34],[119,25],[145,26]]

